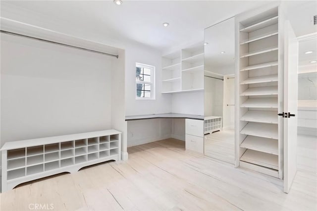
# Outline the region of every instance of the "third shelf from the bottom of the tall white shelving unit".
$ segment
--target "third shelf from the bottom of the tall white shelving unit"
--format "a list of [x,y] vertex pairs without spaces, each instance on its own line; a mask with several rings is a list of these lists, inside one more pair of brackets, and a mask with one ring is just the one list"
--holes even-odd
[[275,124],[249,122],[240,134],[252,135],[270,139],[278,139],[278,127]]

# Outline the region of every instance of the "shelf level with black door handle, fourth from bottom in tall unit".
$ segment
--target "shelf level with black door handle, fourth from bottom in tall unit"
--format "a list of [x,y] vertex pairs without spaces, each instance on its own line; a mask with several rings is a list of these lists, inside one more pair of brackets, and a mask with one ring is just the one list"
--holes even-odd
[[240,120],[277,124],[277,117],[277,111],[248,110]]

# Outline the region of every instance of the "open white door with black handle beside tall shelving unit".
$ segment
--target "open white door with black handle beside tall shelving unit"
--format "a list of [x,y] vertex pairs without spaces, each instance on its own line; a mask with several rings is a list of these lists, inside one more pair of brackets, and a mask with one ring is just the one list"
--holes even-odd
[[[297,171],[298,41],[285,21],[284,41],[284,192],[288,193]],[[291,114],[291,116],[289,116]],[[295,114],[293,116],[292,114]]]

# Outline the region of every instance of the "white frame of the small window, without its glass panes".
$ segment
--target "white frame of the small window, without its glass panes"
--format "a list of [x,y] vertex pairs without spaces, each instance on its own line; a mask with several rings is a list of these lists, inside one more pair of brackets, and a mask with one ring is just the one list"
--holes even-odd
[[[148,68],[151,70],[151,82],[147,81],[137,81],[135,79],[135,99],[136,100],[155,100],[155,66],[149,64],[135,63],[135,72],[134,75],[136,77],[136,68]],[[137,84],[149,84],[151,85],[150,96],[151,97],[138,97],[137,96]]]

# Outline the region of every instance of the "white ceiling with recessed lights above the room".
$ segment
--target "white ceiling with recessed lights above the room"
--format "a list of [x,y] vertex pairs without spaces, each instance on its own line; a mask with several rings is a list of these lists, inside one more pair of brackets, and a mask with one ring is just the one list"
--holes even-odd
[[[112,0],[1,0],[1,16],[14,16],[12,12],[2,9],[5,6],[14,6],[23,8],[28,14],[25,18],[33,18],[30,21],[42,24],[41,27],[58,26],[71,33],[82,32],[86,38],[93,40],[138,42],[163,51],[202,41],[204,28],[267,3],[240,0],[123,0],[121,5],[116,5]],[[25,18],[19,21],[23,22]],[[47,19],[46,23],[44,19]],[[163,22],[170,25],[165,28],[162,26]]]

